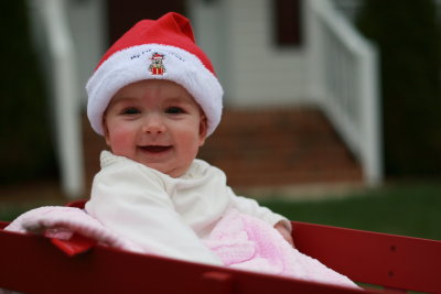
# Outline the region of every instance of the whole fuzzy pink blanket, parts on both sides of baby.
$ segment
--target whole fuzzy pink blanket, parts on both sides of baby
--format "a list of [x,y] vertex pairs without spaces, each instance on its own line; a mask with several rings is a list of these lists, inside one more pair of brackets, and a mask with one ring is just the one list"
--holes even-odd
[[[140,247],[104,227],[84,210],[73,207],[47,206],[30,210],[12,221],[6,230],[41,233],[56,240],[69,240],[79,235],[100,244],[143,252]],[[65,250],[66,244],[69,243],[62,242],[60,247]],[[293,249],[268,224],[236,210],[218,221],[205,244],[226,266],[358,288],[346,276]],[[84,249],[88,247],[86,244]],[[75,253],[75,250],[82,251],[74,248],[71,252]]]

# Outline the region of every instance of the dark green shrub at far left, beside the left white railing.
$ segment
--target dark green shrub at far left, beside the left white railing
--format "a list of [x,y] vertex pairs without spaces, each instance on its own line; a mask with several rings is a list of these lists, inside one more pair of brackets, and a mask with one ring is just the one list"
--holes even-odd
[[53,175],[50,109],[24,0],[4,1],[0,26],[0,184]]

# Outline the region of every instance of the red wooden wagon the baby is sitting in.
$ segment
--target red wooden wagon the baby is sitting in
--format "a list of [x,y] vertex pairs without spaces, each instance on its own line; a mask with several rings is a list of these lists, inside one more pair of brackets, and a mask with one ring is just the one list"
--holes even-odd
[[0,221],[0,288],[24,293],[441,293],[434,240],[293,221],[297,248],[362,283],[361,292],[101,246],[68,257],[51,239],[7,225]]

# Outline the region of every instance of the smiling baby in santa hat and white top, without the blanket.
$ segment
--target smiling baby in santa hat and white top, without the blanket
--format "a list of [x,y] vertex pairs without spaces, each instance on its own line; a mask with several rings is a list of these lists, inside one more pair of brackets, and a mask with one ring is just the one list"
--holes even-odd
[[222,264],[205,244],[230,210],[273,226],[290,222],[236,196],[225,174],[195,159],[222,116],[223,89],[178,13],[144,20],[104,55],[87,84],[87,113],[103,151],[86,211],[147,251]]

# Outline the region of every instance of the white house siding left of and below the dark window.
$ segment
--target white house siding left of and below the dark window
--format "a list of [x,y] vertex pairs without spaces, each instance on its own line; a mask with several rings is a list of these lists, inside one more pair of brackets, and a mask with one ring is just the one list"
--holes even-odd
[[[219,64],[226,100],[230,106],[287,106],[308,98],[308,59],[302,48],[280,48],[272,41],[271,0],[219,0],[217,32],[196,24],[201,40],[220,36],[214,64]],[[201,11],[200,11],[201,12]],[[196,12],[197,14],[197,12]],[[197,17],[197,15],[195,15]],[[198,18],[201,20],[201,18]],[[207,18],[205,19],[207,20]],[[213,21],[213,19],[212,19]],[[215,42],[215,41],[212,41]],[[206,44],[206,43],[205,43]],[[213,47],[204,47],[211,56]]]

